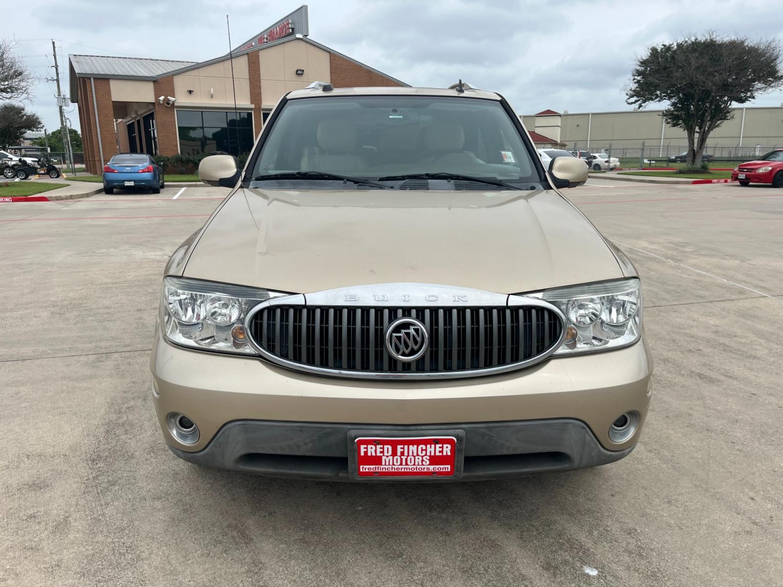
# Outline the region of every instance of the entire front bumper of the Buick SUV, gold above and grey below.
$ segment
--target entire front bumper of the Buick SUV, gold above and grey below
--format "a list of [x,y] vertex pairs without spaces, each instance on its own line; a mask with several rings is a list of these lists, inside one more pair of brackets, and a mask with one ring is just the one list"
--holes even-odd
[[[511,453],[475,456],[516,455],[515,474],[525,474],[609,463],[626,456],[636,445],[647,415],[652,362],[640,340],[628,348],[550,358],[497,376],[346,380],[298,373],[258,358],[186,350],[169,344],[158,330],[151,368],[153,403],[165,441],[175,454],[193,462],[268,473],[269,465],[259,456],[345,459],[348,428],[388,433],[410,427],[429,431],[459,427],[466,433],[477,430],[471,434],[500,438],[501,445],[513,447]],[[636,433],[625,442],[612,442],[609,427],[622,412],[631,410],[640,414]],[[182,412],[197,424],[196,443],[182,444],[171,434],[167,423],[171,412]],[[518,431],[502,440],[497,426]],[[282,436],[272,442],[270,438],[276,437],[269,430]],[[294,447],[290,438],[308,438],[305,444],[315,452],[280,452],[281,446]],[[557,458],[543,469],[522,463],[525,455],[543,453],[557,453]],[[285,467],[305,473],[293,462]],[[327,476],[340,477],[335,471],[346,469],[340,465],[331,470]],[[489,476],[498,474],[503,470]]]

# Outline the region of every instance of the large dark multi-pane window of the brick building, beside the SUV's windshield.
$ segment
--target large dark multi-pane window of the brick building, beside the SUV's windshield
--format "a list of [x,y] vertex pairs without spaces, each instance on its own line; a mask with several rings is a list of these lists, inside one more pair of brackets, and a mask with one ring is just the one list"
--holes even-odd
[[253,114],[221,110],[177,110],[179,152],[249,153],[253,148]]

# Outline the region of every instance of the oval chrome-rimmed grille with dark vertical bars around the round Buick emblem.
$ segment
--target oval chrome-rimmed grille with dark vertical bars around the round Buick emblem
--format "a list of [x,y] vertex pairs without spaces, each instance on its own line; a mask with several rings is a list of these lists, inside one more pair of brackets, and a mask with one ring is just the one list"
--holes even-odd
[[[267,305],[247,321],[254,346],[294,369],[342,376],[468,376],[526,366],[559,347],[560,315],[547,304],[492,307]],[[384,334],[410,317],[429,333],[414,362],[392,358]]]

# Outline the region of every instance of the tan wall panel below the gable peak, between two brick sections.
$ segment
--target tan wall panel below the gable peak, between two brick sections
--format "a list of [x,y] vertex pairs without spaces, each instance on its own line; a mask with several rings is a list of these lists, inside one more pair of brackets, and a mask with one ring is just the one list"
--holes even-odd
[[[272,108],[283,94],[313,81],[332,81],[330,53],[299,39],[258,51],[262,106]],[[297,75],[296,70],[305,70]]]

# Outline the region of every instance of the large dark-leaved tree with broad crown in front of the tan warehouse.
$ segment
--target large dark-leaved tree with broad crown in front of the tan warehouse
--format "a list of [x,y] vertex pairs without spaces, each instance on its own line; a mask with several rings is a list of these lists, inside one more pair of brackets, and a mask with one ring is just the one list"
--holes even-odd
[[781,55],[781,41],[712,32],[653,46],[636,61],[627,103],[668,103],[663,118],[685,131],[686,167],[698,167],[709,134],[731,118],[732,104],[783,87]]

